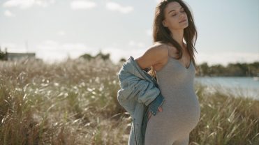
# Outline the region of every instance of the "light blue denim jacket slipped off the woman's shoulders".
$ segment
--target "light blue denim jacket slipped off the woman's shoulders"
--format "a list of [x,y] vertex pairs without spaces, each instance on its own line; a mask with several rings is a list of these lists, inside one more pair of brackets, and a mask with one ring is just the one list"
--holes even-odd
[[148,113],[154,116],[164,101],[158,84],[130,56],[118,73],[119,89],[117,99],[119,104],[131,114],[131,132],[128,145],[144,145]]

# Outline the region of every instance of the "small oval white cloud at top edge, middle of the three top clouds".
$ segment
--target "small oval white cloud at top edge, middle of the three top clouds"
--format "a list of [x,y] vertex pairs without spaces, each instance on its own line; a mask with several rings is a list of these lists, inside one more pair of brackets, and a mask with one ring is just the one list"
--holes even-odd
[[96,3],[94,1],[72,1],[71,2],[71,8],[73,10],[84,10],[84,9],[90,9],[96,7]]

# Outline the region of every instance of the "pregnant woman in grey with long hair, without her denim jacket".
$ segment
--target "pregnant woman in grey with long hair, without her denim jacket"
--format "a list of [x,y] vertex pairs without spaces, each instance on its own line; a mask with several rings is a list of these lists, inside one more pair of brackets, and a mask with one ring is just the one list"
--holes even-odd
[[158,3],[153,38],[154,45],[135,60],[141,69],[151,68],[165,101],[156,116],[149,115],[145,144],[187,145],[200,119],[200,105],[193,84],[197,31],[184,1]]

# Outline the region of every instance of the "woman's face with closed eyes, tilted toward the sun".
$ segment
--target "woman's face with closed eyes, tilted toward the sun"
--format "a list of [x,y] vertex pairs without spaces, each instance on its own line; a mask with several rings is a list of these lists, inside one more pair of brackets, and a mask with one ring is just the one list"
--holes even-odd
[[168,3],[168,6],[164,10],[164,15],[163,26],[168,27],[171,31],[184,29],[188,26],[187,14],[184,8],[175,1]]

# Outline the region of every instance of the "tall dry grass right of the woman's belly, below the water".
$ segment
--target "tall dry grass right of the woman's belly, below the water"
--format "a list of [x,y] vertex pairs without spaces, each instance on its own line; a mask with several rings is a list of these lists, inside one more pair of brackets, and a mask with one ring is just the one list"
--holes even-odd
[[190,144],[259,144],[259,101],[235,98],[221,89],[195,85],[201,107],[200,122],[190,134]]

